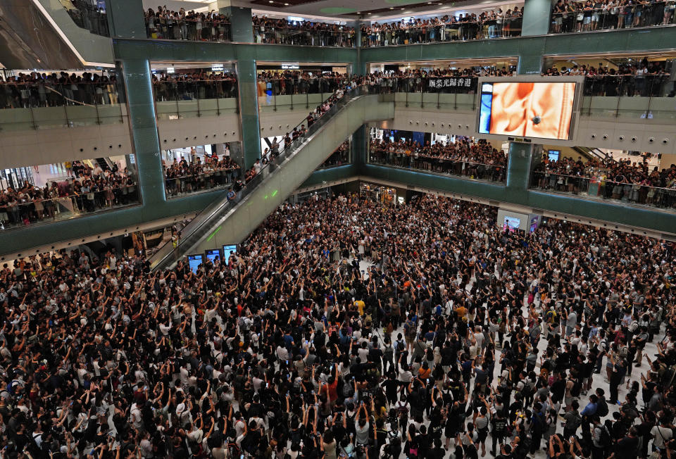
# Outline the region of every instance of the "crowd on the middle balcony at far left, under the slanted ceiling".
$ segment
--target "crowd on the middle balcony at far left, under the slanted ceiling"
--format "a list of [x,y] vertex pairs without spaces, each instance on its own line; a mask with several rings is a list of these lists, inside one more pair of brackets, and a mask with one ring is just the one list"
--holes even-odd
[[0,76],[0,108],[109,105],[120,101],[115,75],[18,73]]

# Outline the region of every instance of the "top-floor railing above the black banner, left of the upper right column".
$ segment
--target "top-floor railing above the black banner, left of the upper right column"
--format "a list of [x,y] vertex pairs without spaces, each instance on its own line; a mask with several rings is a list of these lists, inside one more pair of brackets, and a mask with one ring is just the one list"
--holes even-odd
[[398,28],[395,25],[366,29],[361,34],[361,46],[397,46],[401,44],[439,43],[458,40],[482,40],[520,37],[523,18],[495,18]]

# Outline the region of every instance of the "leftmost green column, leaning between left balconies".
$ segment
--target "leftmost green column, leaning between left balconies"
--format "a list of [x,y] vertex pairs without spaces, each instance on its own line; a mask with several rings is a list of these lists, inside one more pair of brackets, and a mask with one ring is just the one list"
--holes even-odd
[[146,218],[165,215],[164,178],[150,65],[146,59],[122,61],[136,169]]

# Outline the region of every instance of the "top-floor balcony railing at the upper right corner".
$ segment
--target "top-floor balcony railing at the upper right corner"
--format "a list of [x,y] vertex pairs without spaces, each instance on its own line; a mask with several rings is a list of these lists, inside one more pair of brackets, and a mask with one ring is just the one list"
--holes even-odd
[[641,5],[608,4],[603,8],[586,8],[551,13],[549,33],[594,32],[595,30],[657,27],[674,23],[673,0],[654,1]]

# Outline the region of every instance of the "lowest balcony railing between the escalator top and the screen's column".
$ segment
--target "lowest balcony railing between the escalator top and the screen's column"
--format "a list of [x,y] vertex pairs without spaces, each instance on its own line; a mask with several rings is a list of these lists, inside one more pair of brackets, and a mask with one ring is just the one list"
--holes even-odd
[[389,153],[387,151],[370,151],[369,163],[394,166],[432,172],[434,174],[455,175],[474,180],[488,182],[505,182],[506,165],[477,163],[437,156],[424,156],[412,153]]

